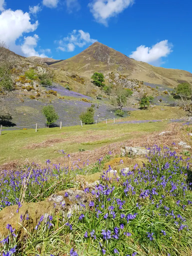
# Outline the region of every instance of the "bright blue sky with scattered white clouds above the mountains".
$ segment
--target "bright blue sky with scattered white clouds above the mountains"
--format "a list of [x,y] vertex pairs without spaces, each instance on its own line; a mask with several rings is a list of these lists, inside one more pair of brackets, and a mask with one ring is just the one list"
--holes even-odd
[[54,59],[97,40],[137,60],[192,72],[191,9],[189,0],[0,0],[0,40],[20,55]]

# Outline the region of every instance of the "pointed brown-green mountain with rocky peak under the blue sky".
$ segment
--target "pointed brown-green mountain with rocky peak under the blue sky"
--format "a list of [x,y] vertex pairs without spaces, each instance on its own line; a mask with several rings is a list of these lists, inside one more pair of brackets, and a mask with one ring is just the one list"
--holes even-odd
[[154,67],[131,59],[99,42],[95,42],[72,58],[52,64],[51,67],[62,68],[84,76],[90,76],[95,71],[120,72],[130,78],[167,86],[175,86],[182,81],[192,83],[192,74],[188,71]]

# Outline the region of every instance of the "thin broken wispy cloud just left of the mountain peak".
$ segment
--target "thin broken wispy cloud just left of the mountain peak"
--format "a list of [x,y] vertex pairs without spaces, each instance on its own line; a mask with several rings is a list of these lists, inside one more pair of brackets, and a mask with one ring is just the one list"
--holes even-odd
[[57,47],[58,50],[61,51],[74,51],[76,46],[83,47],[84,45],[88,43],[94,43],[97,40],[92,39],[90,37],[90,34],[88,32],[84,32],[83,30],[76,30],[74,29],[67,37],[64,37],[63,40],[54,41],[55,43],[59,44],[59,47]]

